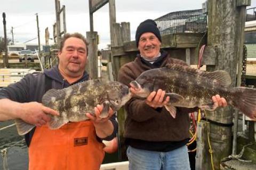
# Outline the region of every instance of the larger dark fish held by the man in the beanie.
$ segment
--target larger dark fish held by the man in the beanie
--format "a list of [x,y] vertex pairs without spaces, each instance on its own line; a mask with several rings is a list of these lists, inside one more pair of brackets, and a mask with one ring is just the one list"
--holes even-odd
[[137,95],[146,98],[151,92],[161,88],[170,96],[165,108],[175,118],[175,107],[214,110],[212,96],[220,94],[231,106],[241,110],[251,119],[256,119],[256,90],[245,87],[230,87],[231,79],[223,70],[205,72],[178,64],[151,69],[142,74],[131,86]]

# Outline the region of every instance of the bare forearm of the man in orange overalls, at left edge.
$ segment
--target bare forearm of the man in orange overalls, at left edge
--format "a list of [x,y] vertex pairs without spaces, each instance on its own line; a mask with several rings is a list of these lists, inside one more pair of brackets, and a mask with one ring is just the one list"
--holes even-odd
[[19,118],[19,109],[21,109],[21,103],[0,99],[0,121]]

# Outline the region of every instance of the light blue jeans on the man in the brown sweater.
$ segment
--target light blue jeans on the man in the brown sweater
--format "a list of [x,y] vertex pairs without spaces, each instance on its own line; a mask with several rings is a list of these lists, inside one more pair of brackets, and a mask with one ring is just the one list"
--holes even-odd
[[187,146],[169,152],[127,148],[130,170],[190,170]]

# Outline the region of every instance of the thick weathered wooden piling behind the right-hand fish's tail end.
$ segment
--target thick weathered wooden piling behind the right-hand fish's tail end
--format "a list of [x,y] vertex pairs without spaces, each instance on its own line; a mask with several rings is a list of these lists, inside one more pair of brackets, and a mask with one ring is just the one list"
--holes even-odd
[[[206,66],[207,71],[225,70],[231,77],[231,86],[235,86],[237,74],[237,50],[241,45],[241,34],[244,30],[240,20],[236,0],[208,1],[208,35],[207,45],[216,47],[218,60],[215,66]],[[245,11],[244,11],[245,12]],[[233,120],[233,110],[230,107],[217,109],[208,115],[214,122],[230,124]],[[221,158],[231,154],[231,127],[211,124],[211,141],[213,148],[214,168],[220,169]]]

